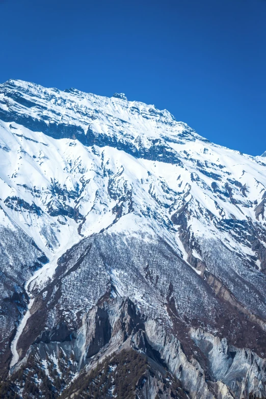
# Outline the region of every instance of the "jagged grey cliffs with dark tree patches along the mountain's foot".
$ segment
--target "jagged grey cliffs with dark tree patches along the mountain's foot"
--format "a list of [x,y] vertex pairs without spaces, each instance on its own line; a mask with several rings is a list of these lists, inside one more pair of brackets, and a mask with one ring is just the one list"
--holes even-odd
[[[259,397],[266,395],[265,359],[200,328],[187,331],[184,346],[178,334],[140,314],[128,298],[102,299],[84,315],[81,327],[71,337],[59,341],[60,334],[65,335],[62,324],[56,334],[46,331],[45,336],[38,337],[12,370],[12,382],[22,396],[26,390],[23,383],[22,387],[19,384],[29,369],[37,376],[45,370],[50,389],[58,392],[56,396],[62,392],[62,397],[85,397],[99,379],[107,392],[112,387],[119,392],[119,380],[128,379],[128,385],[135,382],[130,397],[136,398],[167,394],[234,398],[247,397],[251,391]],[[128,375],[130,367],[132,376]],[[31,383],[38,389],[38,379],[33,378]],[[97,392],[101,397],[102,385],[94,387],[91,395]]]

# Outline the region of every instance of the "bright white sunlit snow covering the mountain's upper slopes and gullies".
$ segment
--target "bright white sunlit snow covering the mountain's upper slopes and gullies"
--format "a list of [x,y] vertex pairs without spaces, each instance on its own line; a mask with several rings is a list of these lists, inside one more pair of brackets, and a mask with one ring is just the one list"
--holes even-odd
[[[52,279],[67,249],[103,229],[162,237],[188,263],[171,221],[185,204],[195,241],[221,240],[256,265],[255,279],[264,279],[245,234],[218,228],[235,220],[265,231],[264,204],[256,211],[266,186],[263,157],[209,143],[154,105],[74,89],[9,81],[0,85],[0,117],[0,223],[19,226],[50,260],[26,283],[30,296]],[[193,256],[202,255],[193,249]],[[125,295],[119,273],[110,276]],[[141,293],[135,296],[141,303]],[[12,365],[29,316],[30,310],[13,341]]]

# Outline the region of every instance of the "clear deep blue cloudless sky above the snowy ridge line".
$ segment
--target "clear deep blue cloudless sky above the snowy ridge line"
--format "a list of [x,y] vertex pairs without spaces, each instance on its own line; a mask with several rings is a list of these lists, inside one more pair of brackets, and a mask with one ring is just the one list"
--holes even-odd
[[266,150],[266,0],[0,0],[0,31],[0,82],[124,92]]

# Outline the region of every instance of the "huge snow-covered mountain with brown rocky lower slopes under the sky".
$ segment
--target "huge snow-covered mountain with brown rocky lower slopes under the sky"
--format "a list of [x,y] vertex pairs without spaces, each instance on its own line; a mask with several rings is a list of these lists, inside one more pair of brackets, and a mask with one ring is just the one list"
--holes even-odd
[[[183,395],[266,396],[262,156],[210,143],[124,94],[0,85],[2,379],[31,369],[32,355],[58,364],[63,351],[73,354],[70,381],[115,339],[149,359],[151,347],[160,353],[156,367]],[[115,327],[124,325],[117,297],[139,314],[135,330]],[[85,328],[92,309],[112,331],[97,345]],[[66,384],[45,370],[63,395]]]

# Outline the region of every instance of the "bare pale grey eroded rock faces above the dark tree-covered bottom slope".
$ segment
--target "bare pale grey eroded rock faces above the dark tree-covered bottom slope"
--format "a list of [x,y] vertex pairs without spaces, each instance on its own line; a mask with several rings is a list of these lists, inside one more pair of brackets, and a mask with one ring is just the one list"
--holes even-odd
[[[63,326],[57,329],[61,330]],[[177,397],[187,394],[195,398],[242,398],[250,391],[259,397],[266,395],[265,359],[249,349],[229,345],[225,338],[220,339],[202,329],[191,328],[188,337],[192,344],[191,355],[186,353],[172,329],[167,330],[158,321],[147,320],[129,299],[116,297],[102,300],[86,313],[81,328],[72,333],[71,340],[59,342],[58,337],[52,340],[51,335],[50,341],[43,341],[40,337],[13,373],[15,376],[16,369],[29,369],[32,356],[35,364],[52,359],[58,367],[62,359],[59,354],[63,353],[65,359],[72,356],[69,380],[74,373],[84,369],[86,374],[80,377],[82,381],[97,362],[103,364],[109,356],[111,363],[110,359],[121,351],[134,350],[145,354],[149,365],[145,374],[139,376],[136,397],[154,398],[156,394],[166,397],[171,393],[171,385],[168,388],[165,385],[167,376],[168,381],[178,382]],[[62,374],[64,369],[60,370]],[[73,392],[75,386],[70,388],[68,395],[71,396],[69,392],[71,389]]]

